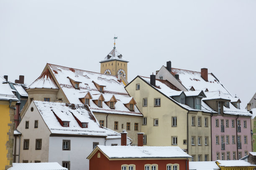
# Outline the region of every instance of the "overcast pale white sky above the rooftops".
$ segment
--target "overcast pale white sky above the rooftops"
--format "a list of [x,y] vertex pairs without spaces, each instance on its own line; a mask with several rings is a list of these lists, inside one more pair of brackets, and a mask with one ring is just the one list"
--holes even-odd
[[31,84],[46,63],[100,72],[113,49],[128,80],[172,67],[213,72],[243,105],[256,92],[256,0],[0,0],[0,75]]

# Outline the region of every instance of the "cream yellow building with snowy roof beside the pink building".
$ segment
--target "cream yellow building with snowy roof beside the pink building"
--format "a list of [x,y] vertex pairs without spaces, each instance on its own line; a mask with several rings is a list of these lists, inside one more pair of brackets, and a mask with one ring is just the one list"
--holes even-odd
[[167,80],[156,80],[155,75],[137,76],[125,89],[143,113],[144,145],[178,145],[193,161],[211,160],[210,107],[186,105],[191,98],[205,97],[202,91],[180,91]]

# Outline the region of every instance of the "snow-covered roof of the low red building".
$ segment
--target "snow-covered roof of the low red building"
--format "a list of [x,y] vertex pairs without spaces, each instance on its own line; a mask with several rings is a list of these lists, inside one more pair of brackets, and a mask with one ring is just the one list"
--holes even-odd
[[178,146],[103,146],[97,147],[108,158],[192,158]]

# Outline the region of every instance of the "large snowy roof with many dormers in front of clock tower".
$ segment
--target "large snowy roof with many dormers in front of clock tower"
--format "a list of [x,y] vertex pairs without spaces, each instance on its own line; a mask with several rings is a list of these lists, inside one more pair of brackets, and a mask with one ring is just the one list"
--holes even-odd
[[[134,106],[134,111],[130,111],[124,105],[126,104],[127,100],[131,100],[131,97],[125,90],[125,85],[123,82],[118,81],[117,76],[78,70],[58,65],[48,65],[57,80],[56,83],[59,83],[62,91],[70,103],[82,104],[79,98],[84,97],[87,92],[90,92],[93,100],[98,100],[98,97],[100,96],[99,94],[102,94],[106,101],[108,101],[109,95],[114,95],[117,99],[115,109],[110,109],[105,102],[102,102],[102,107],[98,107],[95,102],[92,101],[92,99],[90,99],[90,109],[93,112],[143,116],[136,105]],[[76,77],[76,80],[81,82],[79,84],[79,89],[75,89],[67,77]],[[103,93],[97,89],[93,81],[97,82],[99,85],[105,85]]]

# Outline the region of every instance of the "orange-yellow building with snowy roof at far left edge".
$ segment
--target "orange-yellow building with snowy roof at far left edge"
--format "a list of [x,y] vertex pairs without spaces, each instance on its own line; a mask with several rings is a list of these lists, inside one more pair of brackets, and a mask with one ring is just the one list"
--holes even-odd
[[3,77],[0,81],[0,170],[7,170],[13,163],[14,114],[18,98]]

